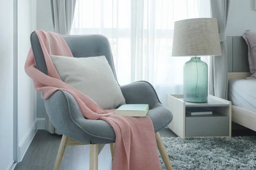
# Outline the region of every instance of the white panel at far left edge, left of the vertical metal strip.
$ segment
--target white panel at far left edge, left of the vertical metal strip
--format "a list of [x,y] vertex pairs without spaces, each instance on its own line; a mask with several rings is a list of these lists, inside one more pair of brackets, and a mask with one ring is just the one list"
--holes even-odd
[[13,0],[0,0],[0,170],[13,164],[14,24]]

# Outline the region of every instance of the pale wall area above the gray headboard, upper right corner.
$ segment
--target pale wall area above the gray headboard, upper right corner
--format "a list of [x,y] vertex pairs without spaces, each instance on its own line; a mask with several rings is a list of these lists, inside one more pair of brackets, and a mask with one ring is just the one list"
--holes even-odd
[[254,0],[230,0],[226,35],[242,35],[247,29],[256,31]]

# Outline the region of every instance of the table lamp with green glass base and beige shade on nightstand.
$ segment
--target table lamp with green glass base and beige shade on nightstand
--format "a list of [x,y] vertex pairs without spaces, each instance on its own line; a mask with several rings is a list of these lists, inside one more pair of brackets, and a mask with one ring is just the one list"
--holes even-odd
[[191,56],[183,68],[183,100],[208,101],[208,66],[201,56],[221,55],[217,19],[193,18],[174,24],[172,56]]

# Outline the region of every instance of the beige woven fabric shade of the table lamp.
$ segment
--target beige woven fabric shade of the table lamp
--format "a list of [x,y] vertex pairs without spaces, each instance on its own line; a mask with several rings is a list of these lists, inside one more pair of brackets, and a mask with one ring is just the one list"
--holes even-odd
[[221,55],[217,19],[193,18],[176,21],[172,56]]

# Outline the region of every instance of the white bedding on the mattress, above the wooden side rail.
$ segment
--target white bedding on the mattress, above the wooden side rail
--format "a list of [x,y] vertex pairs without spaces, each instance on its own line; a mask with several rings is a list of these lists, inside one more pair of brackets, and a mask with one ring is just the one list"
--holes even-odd
[[230,79],[228,100],[232,105],[256,112],[256,79]]

